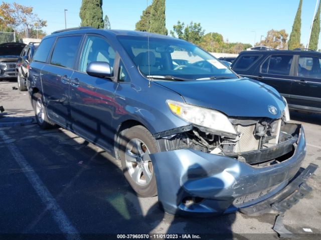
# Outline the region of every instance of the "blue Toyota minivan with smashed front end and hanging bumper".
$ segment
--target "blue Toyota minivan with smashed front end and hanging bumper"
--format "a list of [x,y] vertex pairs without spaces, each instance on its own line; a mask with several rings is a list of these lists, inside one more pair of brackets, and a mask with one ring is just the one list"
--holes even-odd
[[[64,29],[27,86],[40,127],[64,127],[121,161],[140,196],[173,214],[284,212],[311,188],[305,137],[285,98],[187,41]],[[58,143],[57,143],[58,144]]]

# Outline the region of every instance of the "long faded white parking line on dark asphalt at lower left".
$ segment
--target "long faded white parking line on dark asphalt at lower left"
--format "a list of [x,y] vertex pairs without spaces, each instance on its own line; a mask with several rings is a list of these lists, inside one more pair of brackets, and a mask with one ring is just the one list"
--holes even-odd
[[65,234],[66,238],[68,240],[81,239],[77,229],[72,225],[65,212],[60,208],[56,199],[51,195],[45,184],[33,170],[32,166],[28,163],[18,147],[14,143],[10,142],[10,137],[8,137],[4,131],[0,130],[0,136],[7,144],[7,147],[20,167],[23,169],[30,169],[30,171],[25,171],[24,174],[41,198],[42,202],[45,204],[46,208],[50,210],[59,226],[59,229]]

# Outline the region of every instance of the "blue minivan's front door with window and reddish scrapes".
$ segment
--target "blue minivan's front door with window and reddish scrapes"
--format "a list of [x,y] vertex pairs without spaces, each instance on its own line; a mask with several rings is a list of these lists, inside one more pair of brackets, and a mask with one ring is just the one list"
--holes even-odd
[[118,83],[112,78],[88,75],[86,68],[92,61],[106,61],[113,68],[115,51],[102,36],[86,37],[78,71],[71,78],[72,128],[79,135],[108,150],[112,148],[114,140],[112,118],[115,109],[114,92]]

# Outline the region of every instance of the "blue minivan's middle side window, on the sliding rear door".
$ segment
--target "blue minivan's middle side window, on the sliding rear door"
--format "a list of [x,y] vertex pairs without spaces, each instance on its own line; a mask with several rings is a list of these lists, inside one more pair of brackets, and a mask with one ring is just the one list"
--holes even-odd
[[73,68],[80,39],[81,36],[67,36],[58,38],[51,56],[50,63],[57,66]]

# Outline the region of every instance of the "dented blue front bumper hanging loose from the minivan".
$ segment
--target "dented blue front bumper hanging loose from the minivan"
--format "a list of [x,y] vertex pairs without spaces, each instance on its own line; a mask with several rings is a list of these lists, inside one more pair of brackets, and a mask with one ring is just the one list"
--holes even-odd
[[[259,214],[263,213],[263,208],[268,212],[266,208],[291,197],[297,190],[294,185],[298,180],[295,179],[305,156],[302,126],[287,124],[299,129],[294,151],[287,159],[268,166],[252,166],[235,158],[194,149],[150,154],[159,203],[172,214],[219,215],[242,209],[244,213]],[[310,168],[308,172],[311,173]],[[294,185],[291,182],[295,182]],[[309,190],[301,183],[298,187]],[[287,187],[289,184],[292,186]],[[277,194],[280,192],[284,194]],[[264,204],[258,205],[260,202]],[[256,206],[260,206],[260,210]]]

